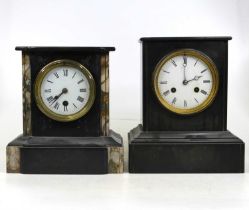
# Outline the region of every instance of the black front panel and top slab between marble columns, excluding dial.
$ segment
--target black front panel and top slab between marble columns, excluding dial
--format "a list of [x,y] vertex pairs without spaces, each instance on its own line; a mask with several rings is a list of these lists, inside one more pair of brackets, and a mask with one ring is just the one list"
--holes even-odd
[[[17,47],[29,56],[31,68],[31,130],[33,136],[101,136],[101,56],[113,47]],[[69,59],[84,65],[92,74],[96,97],[89,112],[71,122],[45,116],[35,102],[34,85],[41,69],[55,60]]]

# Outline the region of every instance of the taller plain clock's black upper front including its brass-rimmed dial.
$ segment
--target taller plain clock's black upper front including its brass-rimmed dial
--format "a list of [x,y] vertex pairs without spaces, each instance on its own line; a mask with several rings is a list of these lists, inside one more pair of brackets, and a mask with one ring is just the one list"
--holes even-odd
[[142,39],[145,131],[226,130],[227,42]]

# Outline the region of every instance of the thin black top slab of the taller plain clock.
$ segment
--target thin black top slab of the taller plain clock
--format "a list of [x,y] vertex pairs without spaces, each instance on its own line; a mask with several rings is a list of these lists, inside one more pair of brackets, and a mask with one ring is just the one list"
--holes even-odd
[[140,41],[227,41],[231,40],[231,36],[206,36],[206,37],[142,37]]

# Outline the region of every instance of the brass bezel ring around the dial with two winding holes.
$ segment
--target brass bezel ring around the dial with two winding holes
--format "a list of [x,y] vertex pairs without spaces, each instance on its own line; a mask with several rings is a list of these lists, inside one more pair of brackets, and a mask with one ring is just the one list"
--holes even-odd
[[[171,58],[175,57],[175,56],[179,56],[179,55],[189,55],[189,56],[194,56],[200,60],[202,60],[210,69],[211,71],[211,75],[212,75],[212,79],[213,79],[213,86],[211,89],[211,92],[208,96],[208,98],[201,104],[199,104],[197,107],[191,108],[191,109],[180,109],[180,108],[176,108],[173,107],[170,103],[168,103],[167,101],[164,100],[164,98],[162,97],[162,95],[160,94],[159,91],[159,87],[158,87],[158,76],[159,73],[163,67],[163,65],[170,60]],[[180,49],[177,51],[173,51],[170,54],[166,55],[165,57],[163,57],[159,63],[156,65],[156,68],[153,72],[153,88],[154,88],[154,92],[158,98],[158,100],[160,101],[160,103],[168,110],[170,110],[171,112],[174,112],[176,114],[180,114],[180,115],[191,115],[191,114],[195,114],[195,113],[199,113],[202,112],[203,110],[205,110],[208,106],[210,106],[210,104],[213,102],[217,91],[218,91],[218,86],[219,86],[219,75],[218,75],[218,70],[217,67],[215,66],[214,62],[204,53],[198,51],[198,50],[194,50],[194,49]]]

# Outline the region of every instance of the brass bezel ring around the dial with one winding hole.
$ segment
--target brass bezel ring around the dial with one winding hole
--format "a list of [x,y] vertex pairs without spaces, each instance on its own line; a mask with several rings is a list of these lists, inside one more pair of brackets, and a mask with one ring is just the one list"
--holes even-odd
[[[70,66],[70,67],[77,68],[88,79],[89,89],[90,89],[89,100],[87,101],[86,105],[80,111],[76,112],[75,114],[71,114],[71,115],[57,114],[57,113],[51,111],[50,109],[48,109],[42,100],[42,97],[41,97],[42,81],[51,70],[53,70],[54,68],[59,67],[59,66]],[[56,60],[56,61],[53,61],[53,62],[47,64],[46,66],[44,66],[40,70],[40,72],[38,73],[34,86],[35,86],[34,87],[35,100],[36,100],[36,104],[37,104],[38,108],[40,109],[40,111],[43,114],[45,114],[47,117],[49,117],[53,120],[56,120],[56,121],[60,121],[60,122],[74,121],[74,120],[77,120],[77,119],[83,117],[84,115],[86,115],[86,113],[91,109],[91,107],[94,103],[94,100],[95,100],[95,95],[96,95],[96,93],[95,93],[95,81],[94,81],[94,78],[93,78],[92,74],[90,73],[90,71],[86,67],[84,67],[82,64],[80,64],[76,61],[67,60],[67,59]]]

